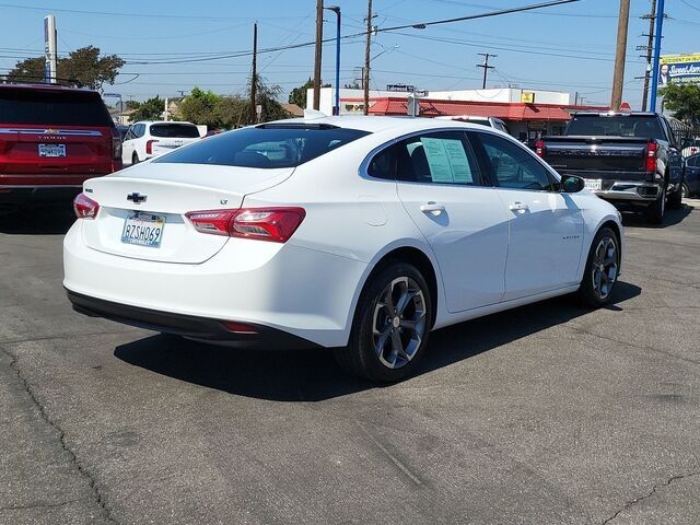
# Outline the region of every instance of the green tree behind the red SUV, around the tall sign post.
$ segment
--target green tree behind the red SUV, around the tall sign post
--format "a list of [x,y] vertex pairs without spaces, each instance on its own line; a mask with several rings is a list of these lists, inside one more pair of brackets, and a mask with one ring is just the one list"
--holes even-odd
[[[44,80],[44,63],[43,57],[21,60],[7,74],[7,79],[40,82]],[[56,77],[59,84],[79,83],[85,88],[101,90],[105,83],[114,84],[124,63],[117,55],[101,57],[98,47],[81,47],[71,51],[68,57],[57,60]]]

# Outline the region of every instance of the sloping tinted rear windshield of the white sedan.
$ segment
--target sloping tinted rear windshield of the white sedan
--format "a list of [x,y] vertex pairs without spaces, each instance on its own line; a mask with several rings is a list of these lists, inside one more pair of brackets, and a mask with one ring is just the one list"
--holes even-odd
[[365,135],[334,126],[262,125],[209,137],[154,162],[295,167]]

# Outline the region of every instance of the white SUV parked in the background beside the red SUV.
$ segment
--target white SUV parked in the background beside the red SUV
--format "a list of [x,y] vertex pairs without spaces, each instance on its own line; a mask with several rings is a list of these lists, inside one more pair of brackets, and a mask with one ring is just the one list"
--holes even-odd
[[127,131],[121,159],[125,165],[138,164],[199,139],[199,130],[191,122],[143,120]]

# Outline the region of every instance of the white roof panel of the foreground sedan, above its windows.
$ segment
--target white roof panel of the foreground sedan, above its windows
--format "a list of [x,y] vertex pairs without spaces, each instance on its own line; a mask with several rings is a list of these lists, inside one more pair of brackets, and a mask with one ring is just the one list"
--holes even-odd
[[281,124],[281,125],[326,125],[335,126],[338,128],[358,129],[361,131],[378,132],[390,131],[396,132],[411,132],[421,131],[423,129],[439,129],[439,128],[471,128],[482,130],[483,126],[476,124],[469,124],[459,120],[443,120],[430,117],[384,117],[384,116],[365,116],[365,115],[341,115],[341,116],[322,116],[322,117],[302,117],[290,118],[285,120],[276,120],[273,122],[266,124]]

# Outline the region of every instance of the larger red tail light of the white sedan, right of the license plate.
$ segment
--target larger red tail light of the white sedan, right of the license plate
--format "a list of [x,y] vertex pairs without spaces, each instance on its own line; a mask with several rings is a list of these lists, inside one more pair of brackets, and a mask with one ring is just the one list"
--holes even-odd
[[303,208],[242,208],[185,213],[201,233],[285,243],[306,217]]

